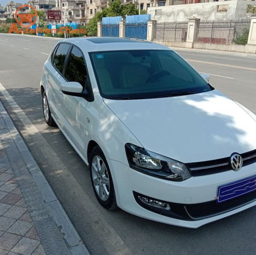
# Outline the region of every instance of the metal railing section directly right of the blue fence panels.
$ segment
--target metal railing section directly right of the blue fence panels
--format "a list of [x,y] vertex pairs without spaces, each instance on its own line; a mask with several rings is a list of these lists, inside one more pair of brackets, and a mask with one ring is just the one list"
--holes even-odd
[[154,31],[155,40],[186,42],[188,22],[161,22],[157,23]]

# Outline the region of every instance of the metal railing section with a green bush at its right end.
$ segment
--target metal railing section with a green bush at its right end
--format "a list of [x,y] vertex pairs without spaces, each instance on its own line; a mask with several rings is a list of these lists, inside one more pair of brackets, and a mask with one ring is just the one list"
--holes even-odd
[[196,41],[215,44],[247,44],[250,22],[250,19],[200,20]]

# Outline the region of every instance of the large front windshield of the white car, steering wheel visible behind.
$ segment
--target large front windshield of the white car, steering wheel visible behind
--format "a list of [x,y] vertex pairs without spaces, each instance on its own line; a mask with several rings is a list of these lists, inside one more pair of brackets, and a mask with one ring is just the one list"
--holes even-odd
[[172,50],[91,52],[100,94],[144,99],[210,91],[210,85]]

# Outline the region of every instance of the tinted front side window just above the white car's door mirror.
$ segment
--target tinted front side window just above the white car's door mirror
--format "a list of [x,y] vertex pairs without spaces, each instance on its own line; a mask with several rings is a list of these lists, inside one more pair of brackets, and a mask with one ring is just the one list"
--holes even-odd
[[68,81],[79,82],[82,86],[84,86],[86,76],[87,72],[83,54],[78,48],[73,47],[68,59],[65,77]]

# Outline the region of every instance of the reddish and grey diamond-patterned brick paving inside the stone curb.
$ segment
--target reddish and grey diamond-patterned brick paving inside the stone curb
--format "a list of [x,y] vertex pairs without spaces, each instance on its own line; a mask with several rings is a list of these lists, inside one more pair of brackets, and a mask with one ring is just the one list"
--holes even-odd
[[45,254],[0,142],[0,255]]

